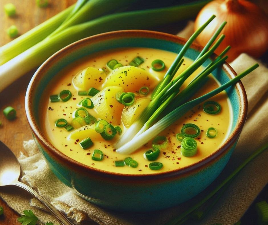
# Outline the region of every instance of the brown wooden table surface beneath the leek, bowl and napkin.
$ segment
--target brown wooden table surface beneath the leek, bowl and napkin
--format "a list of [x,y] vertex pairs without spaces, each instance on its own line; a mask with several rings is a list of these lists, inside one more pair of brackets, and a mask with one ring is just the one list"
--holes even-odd
[[[260,1],[263,2],[263,0]],[[9,18],[4,13],[3,6],[10,2],[16,5],[16,17]],[[36,6],[35,0],[0,0],[0,46],[11,41],[5,32],[11,25],[16,25],[19,29],[19,33],[23,34],[66,7],[74,4],[76,0],[49,2],[49,7],[39,8]],[[16,156],[19,156],[20,152],[24,152],[22,146],[23,140],[32,138],[31,130],[25,116],[24,101],[26,89],[33,73],[34,71],[24,75],[0,93],[0,121],[3,124],[0,127],[0,140],[4,142]],[[17,111],[17,118],[13,121],[8,121],[3,116],[3,113],[1,113],[7,106],[12,106]],[[20,224],[17,221],[19,214],[9,208],[1,198],[0,206],[4,207],[4,216],[0,216],[0,224]]]

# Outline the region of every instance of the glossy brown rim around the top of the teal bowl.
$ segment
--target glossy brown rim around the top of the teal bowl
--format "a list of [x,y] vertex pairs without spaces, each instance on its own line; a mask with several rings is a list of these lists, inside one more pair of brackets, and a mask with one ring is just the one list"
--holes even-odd
[[[54,53],[37,69],[36,73],[34,74],[33,78],[31,79],[29,83],[26,97],[25,97],[25,111],[26,111],[28,123],[31,127],[31,130],[34,136],[47,149],[46,152],[50,154],[50,156],[54,156],[54,158],[56,157],[65,165],[69,165],[72,167],[72,169],[79,170],[80,172],[83,172],[83,173],[94,172],[95,175],[99,174],[99,175],[109,176],[110,178],[113,177],[113,178],[119,178],[119,179],[126,178],[126,177],[129,177],[131,179],[133,178],[145,178],[146,179],[146,178],[156,178],[156,177],[161,178],[161,177],[176,176],[178,174],[192,172],[193,170],[196,170],[198,168],[204,168],[206,164],[209,164],[210,162],[218,158],[219,155],[223,154],[228,149],[228,147],[232,144],[232,142],[234,142],[239,137],[239,134],[246,120],[247,96],[246,96],[246,92],[241,81],[237,82],[237,84],[235,85],[235,89],[238,93],[238,99],[241,103],[241,107],[239,108],[238,122],[233,132],[215,152],[203,158],[202,160],[196,163],[193,163],[189,166],[183,167],[183,168],[178,168],[176,170],[166,171],[166,172],[158,172],[155,174],[121,174],[121,173],[109,172],[109,171],[100,170],[100,169],[82,164],[66,156],[65,154],[57,150],[52,144],[50,144],[50,142],[47,140],[45,135],[42,133],[41,129],[38,127],[36,121],[34,120],[33,108],[31,107],[31,99],[34,94],[34,84],[39,80],[38,77],[40,76],[42,77],[42,73],[47,70],[46,67],[49,68],[51,65],[54,64],[55,61],[57,62],[57,59],[59,59],[62,54],[66,55],[69,52],[72,52],[72,50],[75,50],[78,47],[79,48],[83,47],[84,45],[87,45],[90,42],[99,42],[101,40],[119,38],[119,37],[120,38],[125,38],[125,37],[154,38],[154,39],[161,39],[165,41],[171,41],[171,42],[178,43],[181,45],[183,45],[186,42],[186,39],[182,37],[178,37],[176,35],[172,35],[168,33],[158,32],[158,31],[122,30],[122,31],[112,31],[112,32],[102,33],[102,34],[98,34],[98,35],[94,35],[91,37],[81,39],[79,41],[76,41],[60,49],[56,53]],[[201,45],[196,44],[196,43],[193,43],[191,45],[191,48],[197,51],[201,51],[203,49]],[[215,59],[215,57],[217,57],[217,55],[213,54],[211,58]],[[222,66],[222,69],[227,73],[227,75],[230,78],[233,78],[237,75],[234,69],[232,69],[232,67],[226,62]]]

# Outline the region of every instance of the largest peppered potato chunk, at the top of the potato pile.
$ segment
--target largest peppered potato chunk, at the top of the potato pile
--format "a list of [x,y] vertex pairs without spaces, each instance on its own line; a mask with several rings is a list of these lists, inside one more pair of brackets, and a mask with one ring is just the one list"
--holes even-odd
[[119,86],[125,92],[139,93],[141,87],[153,89],[157,84],[157,79],[149,72],[133,66],[124,66],[114,69],[107,77],[103,87]]

